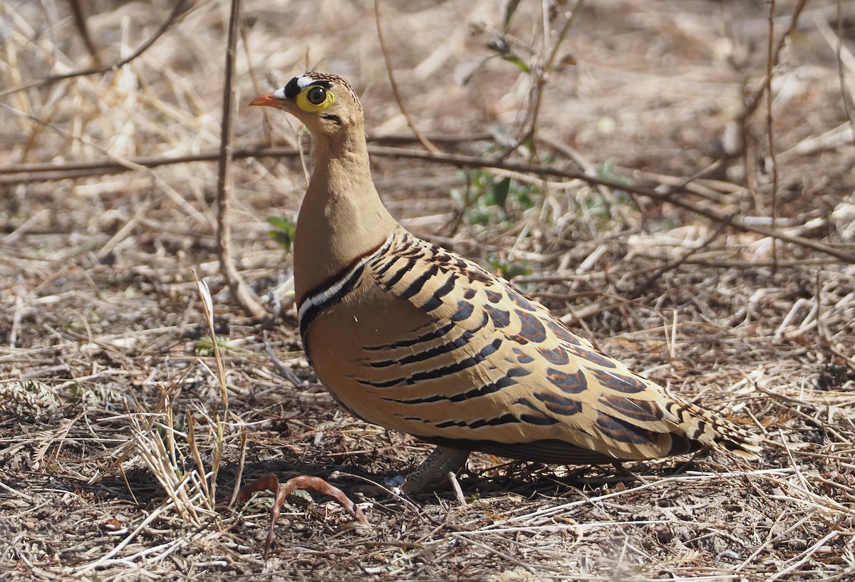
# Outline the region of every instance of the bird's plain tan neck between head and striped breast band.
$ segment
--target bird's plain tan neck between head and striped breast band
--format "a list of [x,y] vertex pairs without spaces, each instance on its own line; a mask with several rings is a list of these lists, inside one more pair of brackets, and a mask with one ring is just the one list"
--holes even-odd
[[374,188],[362,132],[316,143],[315,169],[294,238],[295,298],[334,283],[398,227]]

